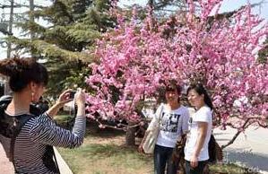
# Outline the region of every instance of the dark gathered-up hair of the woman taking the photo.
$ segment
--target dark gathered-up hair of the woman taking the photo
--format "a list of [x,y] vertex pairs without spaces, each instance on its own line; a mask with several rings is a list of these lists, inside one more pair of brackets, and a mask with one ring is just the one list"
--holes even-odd
[[9,76],[12,91],[22,91],[30,82],[48,84],[48,70],[34,58],[6,58],[0,61],[0,74]]

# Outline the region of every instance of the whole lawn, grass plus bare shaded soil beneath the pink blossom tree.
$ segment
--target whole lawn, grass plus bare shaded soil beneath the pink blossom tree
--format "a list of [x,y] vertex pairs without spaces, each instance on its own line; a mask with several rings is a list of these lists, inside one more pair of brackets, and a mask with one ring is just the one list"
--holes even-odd
[[[70,118],[56,117],[66,126]],[[136,144],[141,142],[136,138]],[[87,124],[86,137],[78,149],[58,148],[74,174],[152,174],[151,154],[142,154],[137,146],[125,147],[125,133],[116,129],[99,129],[95,123]],[[218,164],[211,167],[212,174],[250,174],[235,164]]]

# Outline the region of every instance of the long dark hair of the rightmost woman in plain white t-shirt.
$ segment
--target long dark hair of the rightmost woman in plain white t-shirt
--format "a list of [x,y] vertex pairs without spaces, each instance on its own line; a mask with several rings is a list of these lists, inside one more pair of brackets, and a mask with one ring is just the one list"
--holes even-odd
[[191,84],[189,88],[187,89],[187,95],[190,90],[195,90],[199,95],[203,94],[203,100],[204,103],[209,106],[211,109],[213,109],[213,104],[211,97],[209,96],[208,92],[203,88],[203,85],[200,83]]

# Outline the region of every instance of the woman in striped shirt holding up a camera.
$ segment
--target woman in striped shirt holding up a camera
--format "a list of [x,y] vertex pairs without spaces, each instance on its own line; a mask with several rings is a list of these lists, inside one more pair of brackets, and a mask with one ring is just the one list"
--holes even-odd
[[84,92],[80,90],[75,95],[77,116],[73,131],[69,131],[53,121],[58,109],[71,100],[69,91],[64,91],[46,113],[32,114],[30,103],[39,101],[48,83],[45,66],[30,58],[4,59],[0,61],[0,74],[10,78],[13,91],[13,99],[0,106],[0,143],[13,162],[15,173],[59,173],[52,159],[52,146],[75,148],[82,144],[86,121]]

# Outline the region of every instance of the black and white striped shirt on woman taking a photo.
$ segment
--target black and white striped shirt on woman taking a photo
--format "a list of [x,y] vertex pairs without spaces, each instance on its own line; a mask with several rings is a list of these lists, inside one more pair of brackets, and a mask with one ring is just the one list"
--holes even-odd
[[[53,174],[42,161],[46,145],[78,147],[82,145],[85,126],[85,117],[76,117],[73,131],[56,126],[47,114],[30,118],[22,127],[14,144],[13,164],[16,172],[19,174]],[[10,138],[0,135],[0,143],[3,144],[4,151],[9,156]]]

